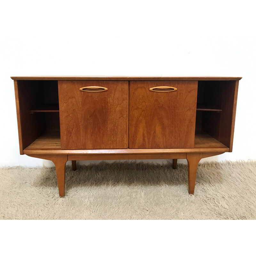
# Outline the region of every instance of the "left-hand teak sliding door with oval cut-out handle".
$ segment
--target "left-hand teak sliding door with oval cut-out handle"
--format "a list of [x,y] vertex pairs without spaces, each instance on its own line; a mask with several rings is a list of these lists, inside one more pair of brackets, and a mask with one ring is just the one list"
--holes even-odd
[[128,148],[128,81],[58,81],[58,88],[61,149]]

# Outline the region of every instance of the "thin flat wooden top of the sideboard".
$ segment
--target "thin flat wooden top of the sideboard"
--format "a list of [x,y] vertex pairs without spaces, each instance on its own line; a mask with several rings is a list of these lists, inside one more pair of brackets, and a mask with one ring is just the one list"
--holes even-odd
[[11,76],[13,80],[240,80],[234,76]]

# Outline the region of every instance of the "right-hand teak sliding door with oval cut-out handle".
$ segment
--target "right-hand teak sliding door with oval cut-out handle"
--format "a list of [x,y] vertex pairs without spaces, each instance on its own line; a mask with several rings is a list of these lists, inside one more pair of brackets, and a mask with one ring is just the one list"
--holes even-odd
[[197,81],[130,81],[129,148],[194,148],[196,99]]

